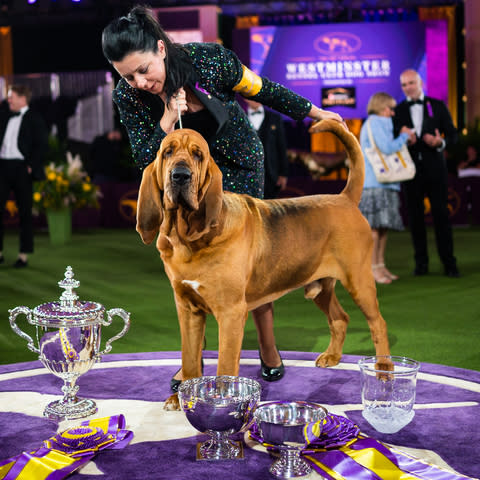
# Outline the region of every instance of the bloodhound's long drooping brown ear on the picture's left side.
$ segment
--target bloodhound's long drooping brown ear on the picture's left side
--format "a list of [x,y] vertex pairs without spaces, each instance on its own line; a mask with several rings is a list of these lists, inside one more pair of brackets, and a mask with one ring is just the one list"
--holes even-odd
[[158,161],[157,159],[144,170],[138,191],[137,232],[146,244],[153,241],[163,221],[163,192],[157,178]]

